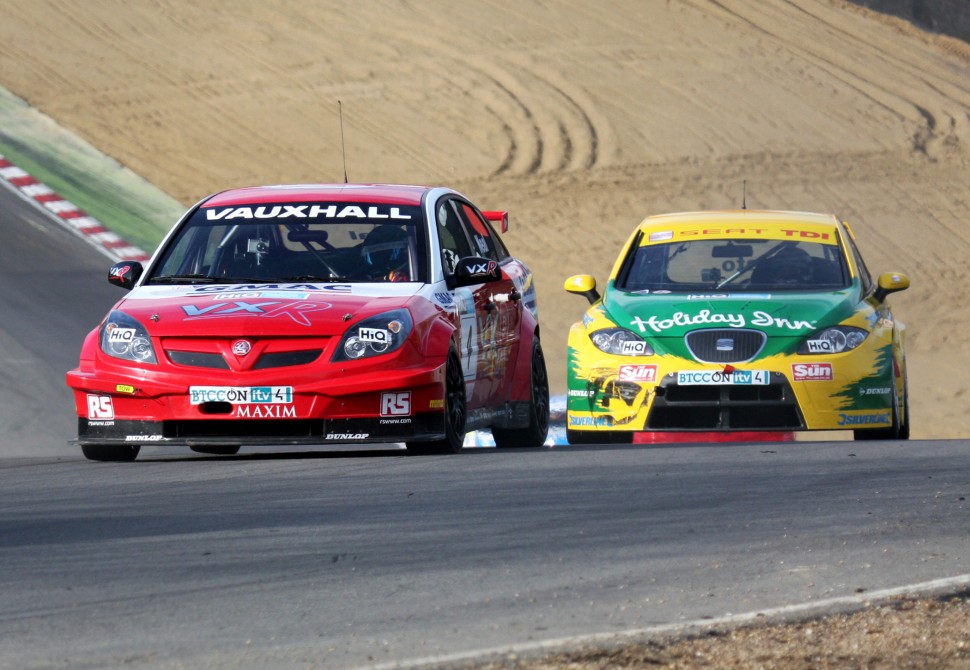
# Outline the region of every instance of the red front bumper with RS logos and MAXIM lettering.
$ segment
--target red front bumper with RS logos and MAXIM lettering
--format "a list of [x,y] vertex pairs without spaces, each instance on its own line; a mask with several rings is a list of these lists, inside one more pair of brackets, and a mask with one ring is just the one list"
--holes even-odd
[[[440,439],[444,365],[319,376],[230,377],[135,374],[121,366],[67,375],[86,445],[313,445]],[[191,389],[212,393],[193,402]],[[274,399],[267,389],[279,391]],[[259,390],[260,393],[255,391]],[[198,396],[198,393],[196,393]]]

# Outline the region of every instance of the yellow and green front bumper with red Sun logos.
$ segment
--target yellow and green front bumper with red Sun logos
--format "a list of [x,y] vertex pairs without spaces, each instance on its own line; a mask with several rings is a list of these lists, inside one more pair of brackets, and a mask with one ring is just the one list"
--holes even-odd
[[[571,352],[571,363],[577,356]],[[766,383],[682,384],[679,372],[717,375],[724,366],[676,357],[596,357],[571,366],[567,428],[572,431],[859,430],[892,425],[894,366],[867,352],[831,361],[775,356],[734,366]],[[708,379],[711,377],[708,376]]]

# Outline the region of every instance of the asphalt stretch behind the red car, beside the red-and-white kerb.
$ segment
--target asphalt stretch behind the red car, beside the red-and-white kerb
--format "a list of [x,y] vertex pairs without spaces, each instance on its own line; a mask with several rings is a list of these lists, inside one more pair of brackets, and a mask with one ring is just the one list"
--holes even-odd
[[122,290],[106,256],[2,180],[0,232],[0,456],[73,455],[64,373]]

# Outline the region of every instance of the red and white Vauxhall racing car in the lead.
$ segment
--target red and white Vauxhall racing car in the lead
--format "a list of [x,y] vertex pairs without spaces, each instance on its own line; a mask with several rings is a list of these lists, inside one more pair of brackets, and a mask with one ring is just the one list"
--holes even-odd
[[209,196],[147,265],[67,373],[78,444],[404,442],[454,453],[545,442],[549,386],[532,274],[447,188],[286,185]]

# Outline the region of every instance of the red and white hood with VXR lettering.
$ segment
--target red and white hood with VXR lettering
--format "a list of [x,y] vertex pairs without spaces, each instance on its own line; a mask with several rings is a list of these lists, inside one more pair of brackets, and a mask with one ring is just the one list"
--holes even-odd
[[422,284],[141,286],[115,309],[159,337],[338,335],[362,318],[403,307]]

